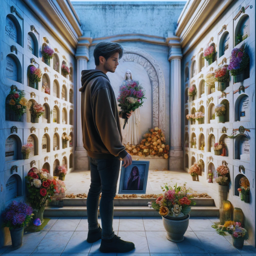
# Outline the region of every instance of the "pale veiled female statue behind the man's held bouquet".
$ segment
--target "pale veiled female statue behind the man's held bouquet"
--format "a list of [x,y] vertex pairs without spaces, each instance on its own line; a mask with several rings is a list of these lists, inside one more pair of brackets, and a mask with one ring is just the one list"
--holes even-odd
[[[128,82],[133,81],[131,70],[125,71],[125,80],[122,81],[122,85],[127,85]],[[125,123],[125,119],[120,119],[121,127]],[[131,113],[131,117],[128,120],[128,123],[125,125],[125,128],[122,129],[122,143],[138,145],[140,143],[140,110],[137,108]]]

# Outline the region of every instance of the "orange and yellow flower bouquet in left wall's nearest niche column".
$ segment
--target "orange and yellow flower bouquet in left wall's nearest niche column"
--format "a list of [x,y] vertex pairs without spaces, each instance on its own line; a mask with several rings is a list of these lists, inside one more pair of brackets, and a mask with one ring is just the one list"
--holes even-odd
[[24,97],[25,95],[24,91],[16,93],[13,90],[11,90],[8,95],[8,108],[14,111],[19,117],[22,116],[23,113],[26,113],[27,107],[31,105],[31,102]]

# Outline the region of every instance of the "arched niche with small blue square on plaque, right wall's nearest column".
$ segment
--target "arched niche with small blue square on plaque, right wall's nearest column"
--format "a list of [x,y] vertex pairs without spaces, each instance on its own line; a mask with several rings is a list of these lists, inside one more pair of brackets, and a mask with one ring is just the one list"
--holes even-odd
[[235,121],[250,121],[250,98],[241,94],[235,103]]

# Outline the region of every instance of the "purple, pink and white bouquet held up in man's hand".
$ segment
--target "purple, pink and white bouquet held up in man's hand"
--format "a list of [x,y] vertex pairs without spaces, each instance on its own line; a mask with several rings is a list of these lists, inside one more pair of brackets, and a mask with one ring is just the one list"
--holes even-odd
[[119,87],[119,96],[117,98],[117,102],[119,102],[118,106],[121,107],[119,114],[125,114],[125,124],[123,129],[128,123],[126,113],[135,111],[135,109],[142,106],[143,99],[146,99],[145,90],[143,90],[143,87],[139,84],[139,81],[131,80],[126,85],[122,84]]

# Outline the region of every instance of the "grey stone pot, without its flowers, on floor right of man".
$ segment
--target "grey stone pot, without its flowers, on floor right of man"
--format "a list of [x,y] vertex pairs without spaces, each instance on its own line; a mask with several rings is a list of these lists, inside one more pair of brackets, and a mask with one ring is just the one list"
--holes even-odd
[[[188,216],[186,218],[186,216]],[[190,215],[181,218],[171,218],[169,216],[162,216],[163,226],[166,230],[166,238],[173,242],[181,242],[184,240],[184,234],[189,227]]]

